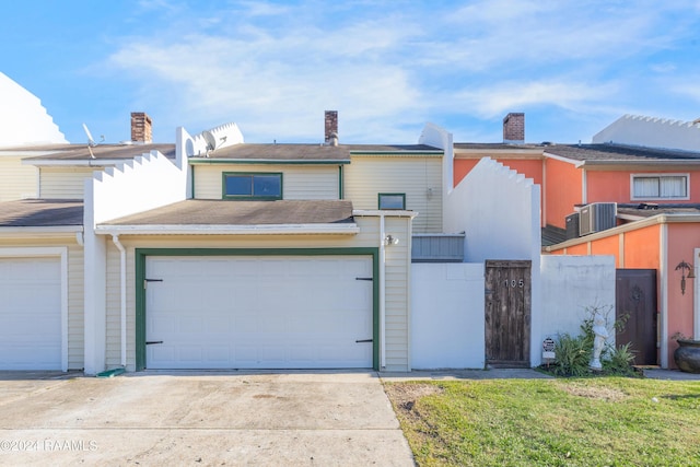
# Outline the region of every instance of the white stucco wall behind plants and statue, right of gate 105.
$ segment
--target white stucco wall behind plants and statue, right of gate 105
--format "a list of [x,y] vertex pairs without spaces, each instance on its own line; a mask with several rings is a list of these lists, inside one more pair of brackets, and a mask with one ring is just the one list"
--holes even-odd
[[[609,311],[615,320],[615,257],[612,256],[560,256],[541,257],[541,326],[533,328],[533,341],[556,339],[568,332],[581,334],[586,308],[597,306]],[[615,343],[615,334],[608,342]],[[539,360],[534,365],[541,363]]]

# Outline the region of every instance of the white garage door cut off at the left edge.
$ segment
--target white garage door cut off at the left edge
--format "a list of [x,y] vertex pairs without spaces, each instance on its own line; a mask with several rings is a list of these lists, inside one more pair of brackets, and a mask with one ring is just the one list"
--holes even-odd
[[60,259],[0,258],[0,370],[60,369]]

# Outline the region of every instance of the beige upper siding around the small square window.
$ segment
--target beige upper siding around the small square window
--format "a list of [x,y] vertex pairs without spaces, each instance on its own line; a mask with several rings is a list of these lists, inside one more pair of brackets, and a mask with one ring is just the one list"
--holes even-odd
[[442,156],[352,155],[345,168],[345,198],[354,209],[377,209],[378,194],[406,194],[417,211],[415,233],[442,232]]

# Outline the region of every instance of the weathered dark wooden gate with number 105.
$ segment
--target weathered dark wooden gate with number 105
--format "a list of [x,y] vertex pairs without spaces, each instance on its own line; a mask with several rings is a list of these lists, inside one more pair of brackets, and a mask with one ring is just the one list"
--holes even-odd
[[486,363],[529,366],[530,261],[486,261]]

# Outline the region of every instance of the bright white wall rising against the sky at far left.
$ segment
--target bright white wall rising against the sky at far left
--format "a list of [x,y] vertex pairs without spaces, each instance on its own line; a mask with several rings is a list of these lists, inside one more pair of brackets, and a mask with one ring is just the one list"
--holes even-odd
[[67,143],[34,94],[0,72],[0,148]]

